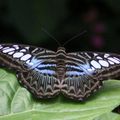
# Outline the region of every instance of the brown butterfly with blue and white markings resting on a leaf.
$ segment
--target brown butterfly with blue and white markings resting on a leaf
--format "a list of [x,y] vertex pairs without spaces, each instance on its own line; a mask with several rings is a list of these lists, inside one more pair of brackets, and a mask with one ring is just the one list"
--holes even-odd
[[37,98],[62,93],[83,101],[101,88],[104,80],[120,76],[120,55],[0,44],[0,66],[14,70],[19,83]]

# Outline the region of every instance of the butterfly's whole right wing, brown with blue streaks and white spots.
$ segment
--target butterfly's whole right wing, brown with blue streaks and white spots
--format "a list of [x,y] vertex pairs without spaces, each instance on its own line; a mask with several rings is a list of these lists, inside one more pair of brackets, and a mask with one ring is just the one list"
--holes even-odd
[[120,55],[94,52],[68,53],[62,92],[83,100],[102,86],[102,81],[120,76]]

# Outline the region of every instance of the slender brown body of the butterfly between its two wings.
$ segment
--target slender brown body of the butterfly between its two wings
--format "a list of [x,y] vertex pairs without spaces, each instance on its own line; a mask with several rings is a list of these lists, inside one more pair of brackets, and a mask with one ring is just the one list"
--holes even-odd
[[57,77],[59,80],[63,80],[65,76],[65,60],[66,52],[64,47],[59,47],[56,52],[56,62],[57,62]]

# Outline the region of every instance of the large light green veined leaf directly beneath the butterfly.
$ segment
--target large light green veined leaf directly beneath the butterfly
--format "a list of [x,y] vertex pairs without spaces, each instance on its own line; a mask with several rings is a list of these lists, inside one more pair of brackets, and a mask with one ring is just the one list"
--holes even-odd
[[85,102],[71,101],[61,95],[53,100],[36,100],[20,87],[14,74],[0,69],[0,120],[93,120],[119,104],[117,80],[106,81]]

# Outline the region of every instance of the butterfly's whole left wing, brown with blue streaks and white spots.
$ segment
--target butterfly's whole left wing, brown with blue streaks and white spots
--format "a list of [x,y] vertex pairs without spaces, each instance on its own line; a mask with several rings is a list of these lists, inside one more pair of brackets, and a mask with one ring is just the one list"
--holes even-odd
[[17,72],[20,84],[37,98],[59,93],[55,52],[28,45],[0,45],[0,65]]

